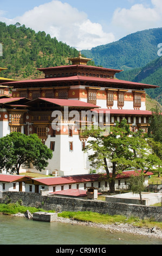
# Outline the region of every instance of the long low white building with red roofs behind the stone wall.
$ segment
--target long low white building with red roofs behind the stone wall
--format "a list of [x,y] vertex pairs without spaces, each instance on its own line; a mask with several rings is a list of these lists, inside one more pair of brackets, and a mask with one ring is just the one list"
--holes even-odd
[[[139,171],[140,172],[140,171]],[[145,185],[152,172],[145,174]],[[138,175],[135,171],[126,171],[118,174],[115,180],[115,189],[127,188],[127,180],[131,175]],[[99,191],[108,191],[108,181],[101,179],[100,174],[72,175],[60,177],[31,178],[30,176],[0,174],[0,191],[22,191],[40,193],[46,190],[49,193],[63,190],[87,190],[87,187],[96,187]]]

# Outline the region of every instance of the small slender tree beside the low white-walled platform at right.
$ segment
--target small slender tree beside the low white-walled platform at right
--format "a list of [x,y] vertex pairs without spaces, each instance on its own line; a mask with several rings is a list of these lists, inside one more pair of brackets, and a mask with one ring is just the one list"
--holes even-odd
[[129,189],[134,193],[138,193],[140,196],[140,202],[142,204],[142,191],[144,191],[144,173],[137,172],[137,175],[132,175],[130,179],[128,179]]

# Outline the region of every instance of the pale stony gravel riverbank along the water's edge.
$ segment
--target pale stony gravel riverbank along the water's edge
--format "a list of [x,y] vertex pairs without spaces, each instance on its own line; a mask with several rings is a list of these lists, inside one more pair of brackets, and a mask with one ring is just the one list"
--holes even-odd
[[[24,214],[15,214],[14,216],[25,217]],[[87,221],[77,221],[77,220],[63,218],[63,217],[58,217],[56,222],[67,223],[71,225],[86,225],[89,227],[102,228],[111,233],[113,232],[129,233],[132,235],[147,236],[150,238],[162,239],[162,230],[158,227],[144,228],[144,227],[137,227],[137,226],[134,226],[133,224],[128,224],[128,223],[101,224],[101,223],[93,223],[93,222],[87,222]],[[122,237],[120,239],[122,239]]]

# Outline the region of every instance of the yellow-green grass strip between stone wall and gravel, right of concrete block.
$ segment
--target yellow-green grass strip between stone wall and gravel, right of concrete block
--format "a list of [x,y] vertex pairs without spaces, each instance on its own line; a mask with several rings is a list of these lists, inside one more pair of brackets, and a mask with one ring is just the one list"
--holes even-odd
[[108,214],[99,214],[97,212],[85,211],[85,212],[69,212],[63,211],[62,213],[58,214],[59,217],[63,218],[71,218],[77,221],[86,221],[86,222],[94,222],[94,223],[101,223],[101,224],[114,224],[114,223],[128,223],[133,224],[138,227],[158,227],[162,229],[162,222],[155,222],[151,219],[141,220],[138,217],[129,217],[122,215],[108,215]]

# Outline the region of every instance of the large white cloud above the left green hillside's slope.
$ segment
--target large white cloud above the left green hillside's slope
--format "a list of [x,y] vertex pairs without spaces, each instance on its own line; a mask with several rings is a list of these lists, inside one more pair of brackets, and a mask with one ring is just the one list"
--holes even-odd
[[114,35],[103,32],[102,26],[88,20],[86,13],[80,12],[68,3],[55,0],[35,7],[13,20],[1,20],[7,24],[20,22],[21,25],[24,24],[36,32],[44,31],[59,41],[77,47],[77,50],[114,41]]

